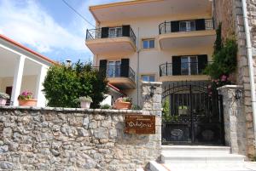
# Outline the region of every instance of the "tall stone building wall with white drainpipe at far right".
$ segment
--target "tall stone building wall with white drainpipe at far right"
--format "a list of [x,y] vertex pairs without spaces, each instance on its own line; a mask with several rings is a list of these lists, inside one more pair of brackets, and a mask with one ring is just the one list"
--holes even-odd
[[[248,17],[249,15],[255,14],[255,9],[255,0],[247,0]],[[244,95],[242,98],[242,105],[244,107],[241,112],[246,118],[245,132],[247,136],[247,156],[253,157],[255,156],[253,111],[249,81],[249,69],[247,62],[247,43],[241,0],[214,0],[214,10],[214,19],[216,23],[222,22],[223,24],[222,37],[224,37],[225,39],[226,37],[230,37],[230,35],[232,34],[236,35],[238,44],[236,84],[241,85],[243,87]],[[249,20],[251,21],[250,25],[253,26],[252,18],[249,17]],[[251,30],[251,32],[253,37],[253,29]],[[253,42],[255,43],[256,47],[256,37],[254,39],[255,41],[253,40]],[[254,65],[254,67],[256,67],[256,65]],[[254,74],[255,73],[256,70],[254,70]]]

